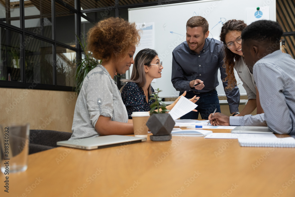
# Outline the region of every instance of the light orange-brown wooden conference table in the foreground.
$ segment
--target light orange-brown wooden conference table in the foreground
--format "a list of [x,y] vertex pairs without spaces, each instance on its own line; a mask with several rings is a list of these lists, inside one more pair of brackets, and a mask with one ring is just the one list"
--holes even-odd
[[295,149],[240,147],[237,139],[148,137],[91,151],[58,147],[31,154],[27,171],[9,174],[9,193],[0,174],[1,196],[293,197]]

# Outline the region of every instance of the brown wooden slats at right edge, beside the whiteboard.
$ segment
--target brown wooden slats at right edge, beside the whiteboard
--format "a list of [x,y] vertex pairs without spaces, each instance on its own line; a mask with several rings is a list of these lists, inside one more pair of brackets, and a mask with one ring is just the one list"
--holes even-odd
[[[294,0],[276,0],[276,17],[284,32],[295,31],[295,2]],[[295,36],[283,37],[286,52],[295,59]]]

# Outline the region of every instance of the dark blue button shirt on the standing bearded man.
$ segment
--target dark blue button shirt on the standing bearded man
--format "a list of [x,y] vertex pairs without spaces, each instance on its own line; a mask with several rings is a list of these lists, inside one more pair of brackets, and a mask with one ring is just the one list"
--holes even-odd
[[[178,45],[172,52],[172,77],[171,82],[176,90],[196,91],[199,93],[209,92],[218,85],[217,71],[220,70],[223,87],[227,87],[227,76],[224,61],[223,44],[214,38],[206,38],[203,50],[196,54],[189,49],[186,41]],[[196,90],[189,87],[189,82],[200,79],[204,82],[205,87]],[[230,113],[239,111],[240,92],[235,86],[231,91],[225,91],[227,102],[230,107]]]

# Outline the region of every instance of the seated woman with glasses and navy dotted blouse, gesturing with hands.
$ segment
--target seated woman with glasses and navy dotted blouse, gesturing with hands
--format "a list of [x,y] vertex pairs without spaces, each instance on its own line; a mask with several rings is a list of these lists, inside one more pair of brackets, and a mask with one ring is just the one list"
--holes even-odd
[[[130,119],[132,112],[150,111],[150,104],[153,103],[153,101],[150,101],[150,94],[154,92],[150,83],[153,79],[161,77],[162,69],[162,62],[158,57],[158,53],[153,49],[143,49],[135,56],[131,77],[122,80],[127,84],[121,88],[122,100]],[[184,95],[186,95],[186,92],[182,96]],[[171,110],[180,97],[166,108]],[[196,102],[196,96],[190,100]]]

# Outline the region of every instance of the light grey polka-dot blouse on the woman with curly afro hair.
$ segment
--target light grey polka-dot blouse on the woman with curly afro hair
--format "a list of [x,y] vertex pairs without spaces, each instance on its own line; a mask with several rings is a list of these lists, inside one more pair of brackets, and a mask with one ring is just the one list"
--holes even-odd
[[73,134],[69,140],[99,136],[94,126],[100,115],[110,117],[112,121],[128,121],[117,85],[104,66],[99,64],[83,81],[75,106]]

